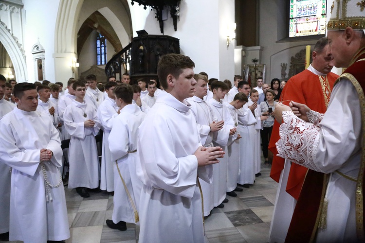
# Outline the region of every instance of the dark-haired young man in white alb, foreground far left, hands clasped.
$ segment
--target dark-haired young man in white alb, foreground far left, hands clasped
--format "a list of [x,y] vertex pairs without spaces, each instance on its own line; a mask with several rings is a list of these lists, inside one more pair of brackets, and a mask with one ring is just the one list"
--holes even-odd
[[37,111],[36,86],[14,87],[17,107],[0,122],[1,162],[12,167],[10,241],[62,241],[70,237],[61,174],[61,142],[46,114]]

